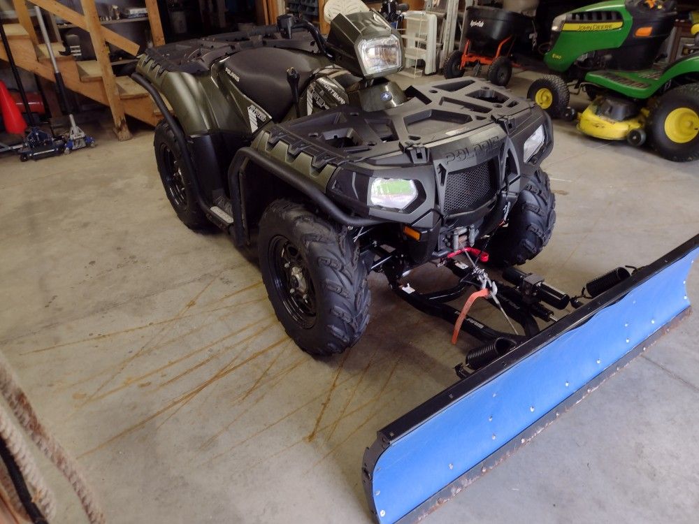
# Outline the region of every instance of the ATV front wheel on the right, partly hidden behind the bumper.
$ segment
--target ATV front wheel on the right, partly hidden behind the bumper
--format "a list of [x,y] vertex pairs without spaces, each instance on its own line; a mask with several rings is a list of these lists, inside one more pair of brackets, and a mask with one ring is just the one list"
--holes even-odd
[[514,203],[507,225],[488,243],[495,265],[523,264],[537,256],[549,242],[556,222],[556,197],[549,175],[537,170],[524,184]]

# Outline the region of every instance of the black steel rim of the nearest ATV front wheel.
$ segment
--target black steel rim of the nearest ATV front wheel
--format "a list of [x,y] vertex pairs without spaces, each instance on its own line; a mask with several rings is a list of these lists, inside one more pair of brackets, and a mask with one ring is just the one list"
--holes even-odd
[[308,265],[288,238],[276,236],[269,243],[268,257],[273,284],[284,308],[299,326],[312,328],[316,319],[316,296]]

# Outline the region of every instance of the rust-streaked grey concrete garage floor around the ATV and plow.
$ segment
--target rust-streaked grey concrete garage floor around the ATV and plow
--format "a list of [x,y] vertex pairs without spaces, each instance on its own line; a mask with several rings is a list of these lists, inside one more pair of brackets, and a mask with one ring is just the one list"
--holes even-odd
[[[454,381],[449,326],[374,275],[361,342],[328,361],[306,356],[276,321],[254,254],[175,217],[152,131],[128,143],[103,132],[99,144],[0,159],[0,347],[108,521],[370,522],[364,448]],[[697,163],[557,123],[545,168],[558,222],[526,267],[563,289],[699,231]],[[696,270],[688,284],[699,301]],[[696,523],[698,336],[693,316],[428,522]],[[57,522],[82,521],[50,479]]]

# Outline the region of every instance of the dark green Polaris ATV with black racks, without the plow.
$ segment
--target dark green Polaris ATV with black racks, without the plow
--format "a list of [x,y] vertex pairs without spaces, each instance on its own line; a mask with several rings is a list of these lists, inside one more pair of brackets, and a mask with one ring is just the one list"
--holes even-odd
[[545,112],[475,78],[403,91],[386,78],[402,66],[397,31],[370,11],[338,15],[327,39],[283,15],[148,49],[133,75],[164,115],[155,157],[178,217],[238,246],[257,235],[275,313],[310,354],[359,340],[370,271],[397,290],[411,268],[468,254],[491,285],[486,246],[524,263],[552,234]]

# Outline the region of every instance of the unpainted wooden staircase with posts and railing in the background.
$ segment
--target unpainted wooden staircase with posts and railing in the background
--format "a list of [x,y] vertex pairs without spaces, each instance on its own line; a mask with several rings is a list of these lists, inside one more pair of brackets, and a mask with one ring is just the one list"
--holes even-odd
[[[59,54],[59,51],[64,50],[62,43],[51,45],[66,87],[89,99],[108,105],[112,112],[114,131],[119,140],[131,138],[125,115],[130,115],[152,126],[159,122],[162,115],[145,89],[129,77],[115,76],[110,64],[107,42],[134,56],[138,54],[138,44],[103,27],[99,22],[94,0],[80,0],[84,14],[67,8],[56,0],[29,1],[89,32],[96,60],[75,61],[72,55]],[[4,24],[4,26],[17,66],[41,78],[54,81],[46,45],[39,43],[26,1],[13,0],[13,3],[19,23]],[[145,0],[145,4],[148,8],[153,43],[162,45],[165,39],[160,24],[157,0]],[[0,59],[8,59],[2,46],[0,46]]]

